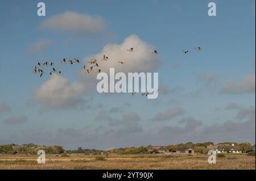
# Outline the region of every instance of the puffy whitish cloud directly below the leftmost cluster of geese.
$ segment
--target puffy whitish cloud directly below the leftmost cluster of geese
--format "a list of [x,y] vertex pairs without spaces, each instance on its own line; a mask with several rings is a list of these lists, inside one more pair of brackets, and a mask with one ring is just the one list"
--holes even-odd
[[35,91],[34,100],[49,108],[76,107],[84,103],[81,95],[86,90],[84,83],[79,81],[69,83],[68,79],[53,75]]

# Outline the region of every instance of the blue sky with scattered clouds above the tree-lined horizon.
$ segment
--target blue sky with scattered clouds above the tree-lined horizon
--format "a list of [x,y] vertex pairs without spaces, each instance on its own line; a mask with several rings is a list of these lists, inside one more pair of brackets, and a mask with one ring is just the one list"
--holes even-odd
[[[1,2],[0,144],[105,149],[188,141],[255,143],[255,1],[213,1],[214,17],[208,16],[210,1],[43,2],[46,16],[36,14],[36,1]],[[69,27],[68,16],[80,17],[74,21],[82,28]],[[101,28],[88,28],[85,16]],[[57,22],[49,24],[53,18]],[[109,43],[134,39],[159,52],[160,64],[150,70],[159,73],[156,100],[101,95],[96,77],[81,75],[80,65],[59,64],[63,57],[86,60]],[[200,52],[193,49],[197,46]],[[31,73],[31,66],[43,60],[63,71],[55,81],[64,82],[58,94],[64,100],[51,92],[54,78]],[[133,65],[129,70],[145,71]]]

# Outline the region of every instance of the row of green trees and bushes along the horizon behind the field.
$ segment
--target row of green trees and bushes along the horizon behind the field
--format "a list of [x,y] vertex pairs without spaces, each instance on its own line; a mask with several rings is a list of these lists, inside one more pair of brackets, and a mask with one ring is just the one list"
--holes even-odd
[[[255,145],[251,145],[250,142],[242,142],[238,144],[237,142],[222,142],[217,145],[237,145],[240,147],[243,153],[255,152]],[[168,152],[175,152],[181,149],[192,148],[196,153],[207,154],[209,149],[207,146],[214,145],[213,142],[203,142],[193,144],[192,142],[187,142],[185,144],[176,144],[176,145],[167,145],[164,146],[164,150]],[[96,149],[82,149],[79,147],[77,150],[64,150],[63,146],[46,146],[46,145],[36,145],[36,144],[7,144],[0,145],[0,154],[37,154],[38,150],[46,151],[46,154],[61,154],[61,153],[83,153],[83,154],[101,154],[104,152],[116,153],[116,154],[152,154],[158,153],[157,150],[152,150],[151,145],[147,146],[137,146],[137,147],[128,147],[128,148],[113,148],[109,150],[96,150]]]

